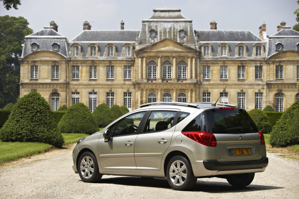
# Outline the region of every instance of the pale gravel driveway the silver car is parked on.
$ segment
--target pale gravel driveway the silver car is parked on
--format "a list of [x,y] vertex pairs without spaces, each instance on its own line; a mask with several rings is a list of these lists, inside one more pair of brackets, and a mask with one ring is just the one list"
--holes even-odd
[[202,178],[192,191],[180,192],[170,189],[166,178],[104,175],[101,183],[83,183],[71,168],[74,146],[2,165],[0,198],[299,198],[299,161],[276,153],[267,153],[266,171],[255,174],[248,187]]

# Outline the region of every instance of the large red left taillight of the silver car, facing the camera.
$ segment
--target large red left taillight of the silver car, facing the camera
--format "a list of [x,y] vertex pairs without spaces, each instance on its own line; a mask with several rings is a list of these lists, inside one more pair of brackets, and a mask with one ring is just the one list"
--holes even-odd
[[217,145],[216,137],[214,136],[213,133],[187,131],[187,132],[182,132],[182,134],[205,146],[215,147]]

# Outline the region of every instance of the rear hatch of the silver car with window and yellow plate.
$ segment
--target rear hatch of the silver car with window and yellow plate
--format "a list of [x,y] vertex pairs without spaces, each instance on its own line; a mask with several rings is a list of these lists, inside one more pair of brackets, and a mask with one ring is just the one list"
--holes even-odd
[[206,132],[215,135],[219,162],[260,160],[263,154],[259,130],[243,109],[215,108],[205,111]]

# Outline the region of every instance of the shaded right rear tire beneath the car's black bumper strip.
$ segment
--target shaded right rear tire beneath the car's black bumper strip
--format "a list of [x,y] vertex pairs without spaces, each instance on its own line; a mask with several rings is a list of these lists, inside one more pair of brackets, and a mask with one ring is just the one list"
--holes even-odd
[[227,182],[234,187],[246,187],[254,179],[254,173],[248,174],[232,174],[226,178]]

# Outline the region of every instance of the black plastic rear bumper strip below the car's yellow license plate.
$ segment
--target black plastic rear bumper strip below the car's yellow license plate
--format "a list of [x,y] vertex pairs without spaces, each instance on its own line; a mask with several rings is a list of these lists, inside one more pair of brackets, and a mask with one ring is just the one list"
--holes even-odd
[[261,160],[218,162],[217,160],[204,160],[203,165],[210,171],[237,170],[237,169],[258,169],[268,166],[268,158]]

